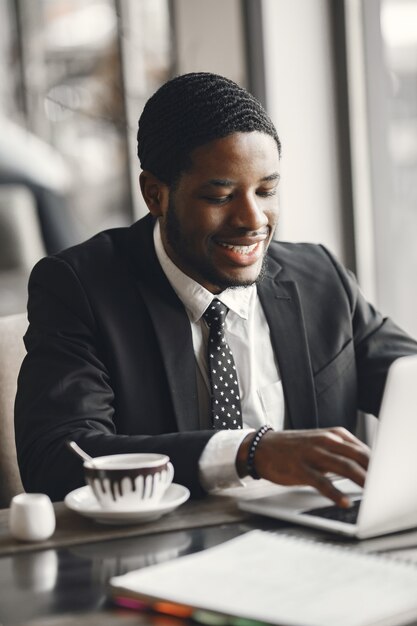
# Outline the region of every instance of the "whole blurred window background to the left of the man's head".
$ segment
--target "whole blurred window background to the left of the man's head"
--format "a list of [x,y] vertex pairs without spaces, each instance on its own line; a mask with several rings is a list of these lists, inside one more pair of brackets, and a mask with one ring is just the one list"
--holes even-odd
[[137,119],[172,73],[169,0],[0,2],[0,315],[34,263],[140,206]]

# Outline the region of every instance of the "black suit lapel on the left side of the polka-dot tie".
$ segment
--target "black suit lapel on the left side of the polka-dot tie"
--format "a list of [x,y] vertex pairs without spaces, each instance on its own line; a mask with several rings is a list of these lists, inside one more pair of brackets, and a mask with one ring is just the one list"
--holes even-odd
[[147,217],[131,227],[128,252],[138,268],[137,286],[157,336],[178,430],[198,430],[197,378],[190,322],[156,258],[153,224]]

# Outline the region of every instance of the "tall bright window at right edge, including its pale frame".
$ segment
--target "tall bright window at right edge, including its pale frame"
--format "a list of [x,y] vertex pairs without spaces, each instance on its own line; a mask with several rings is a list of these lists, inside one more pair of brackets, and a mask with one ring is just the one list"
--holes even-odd
[[364,74],[361,89],[357,64],[350,88],[366,102],[352,108],[364,148],[354,176],[359,267],[379,308],[417,336],[417,0],[346,3],[354,5],[362,30],[361,41],[351,40],[352,56],[362,45]]

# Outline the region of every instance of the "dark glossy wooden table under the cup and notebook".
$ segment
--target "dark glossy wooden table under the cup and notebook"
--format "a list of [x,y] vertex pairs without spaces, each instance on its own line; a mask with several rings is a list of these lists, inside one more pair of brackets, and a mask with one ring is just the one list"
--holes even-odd
[[[106,593],[109,578],[197,552],[253,528],[342,542],[351,549],[383,551],[390,545],[284,527],[239,511],[232,497],[190,501],[157,521],[120,527],[83,518],[63,503],[54,506],[57,528],[42,543],[14,540],[8,531],[9,512],[0,511],[0,626],[183,626],[185,622],[175,618],[111,606]],[[409,545],[417,555],[417,532],[401,537],[398,545]]]

